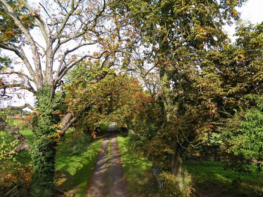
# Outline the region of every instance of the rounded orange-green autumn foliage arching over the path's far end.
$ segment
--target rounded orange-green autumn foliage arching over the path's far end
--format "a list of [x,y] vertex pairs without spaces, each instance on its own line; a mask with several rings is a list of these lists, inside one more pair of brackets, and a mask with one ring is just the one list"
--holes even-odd
[[[138,116],[145,114],[146,105],[153,99],[136,78],[123,75],[122,72],[116,74],[113,69],[104,79],[89,86],[89,90],[84,92],[89,85],[88,81],[96,75],[100,67],[99,61],[96,65],[91,61],[82,61],[65,77],[66,84],[62,86],[65,103],[72,113],[77,113],[87,103],[97,101],[85,109],[74,126],[88,128],[95,138],[97,128],[108,122],[116,122],[120,127],[128,127],[134,122],[142,125],[147,117]],[[109,95],[107,99],[103,99],[105,95]],[[81,99],[76,102],[79,97]]]

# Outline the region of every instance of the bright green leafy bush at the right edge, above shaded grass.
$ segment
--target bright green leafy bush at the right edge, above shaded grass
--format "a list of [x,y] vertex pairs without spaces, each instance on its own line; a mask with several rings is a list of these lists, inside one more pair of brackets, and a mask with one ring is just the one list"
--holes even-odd
[[257,172],[262,172],[262,133],[263,108],[262,96],[247,95],[248,99],[255,99],[257,106],[250,110],[236,113],[229,118],[222,131],[223,163],[225,169],[232,169],[239,174],[252,173],[249,168],[254,161]]

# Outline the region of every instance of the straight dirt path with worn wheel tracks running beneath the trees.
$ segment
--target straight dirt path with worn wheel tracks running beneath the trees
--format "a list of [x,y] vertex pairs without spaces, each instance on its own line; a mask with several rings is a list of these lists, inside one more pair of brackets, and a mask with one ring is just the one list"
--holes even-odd
[[[90,197],[125,197],[126,185],[118,155],[118,142],[115,134],[115,123],[110,123],[108,133],[104,136],[101,153],[98,156],[89,190]],[[110,154],[108,143],[110,142]]]

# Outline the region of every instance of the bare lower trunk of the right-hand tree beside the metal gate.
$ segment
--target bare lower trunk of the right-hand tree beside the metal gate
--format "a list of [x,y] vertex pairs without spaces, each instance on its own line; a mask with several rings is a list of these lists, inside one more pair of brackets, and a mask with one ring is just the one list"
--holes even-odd
[[183,163],[182,154],[183,154],[183,148],[180,146],[179,143],[177,143],[174,148],[174,154],[171,160],[171,164],[172,164],[171,173],[178,178],[181,177],[181,168]]

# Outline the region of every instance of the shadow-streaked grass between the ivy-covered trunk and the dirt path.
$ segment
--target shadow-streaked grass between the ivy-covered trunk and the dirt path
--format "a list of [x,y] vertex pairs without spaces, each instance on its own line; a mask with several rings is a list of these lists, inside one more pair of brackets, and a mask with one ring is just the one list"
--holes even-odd
[[81,155],[70,157],[63,152],[57,153],[55,185],[76,197],[87,196],[101,143],[102,137],[98,137]]

